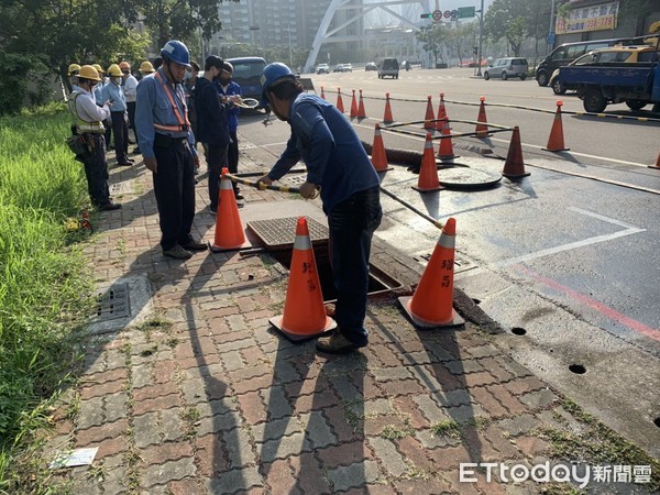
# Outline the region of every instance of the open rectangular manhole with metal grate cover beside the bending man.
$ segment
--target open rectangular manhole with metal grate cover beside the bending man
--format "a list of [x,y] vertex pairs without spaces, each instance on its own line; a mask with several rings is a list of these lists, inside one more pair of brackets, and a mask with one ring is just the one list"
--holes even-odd
[[[272,251],[271,255],[277,262],[287,270],[290,270],[297,222],[298,217],[278,218],[248,222],[248,228],[262,240],[266,250]],[[334,289],[330,256],[328,254],[328,228],[310,218],[307,218],[307,227],[309,229],[309,239],[314,246],[314,257],[323,293],[323,300],[334,300],[337,299],[337,292]],[[387,274],[384,268],[376,266],[372,260],[370,264],[369,296],[385,294],[400,287],[403,287],[400,282]]]

